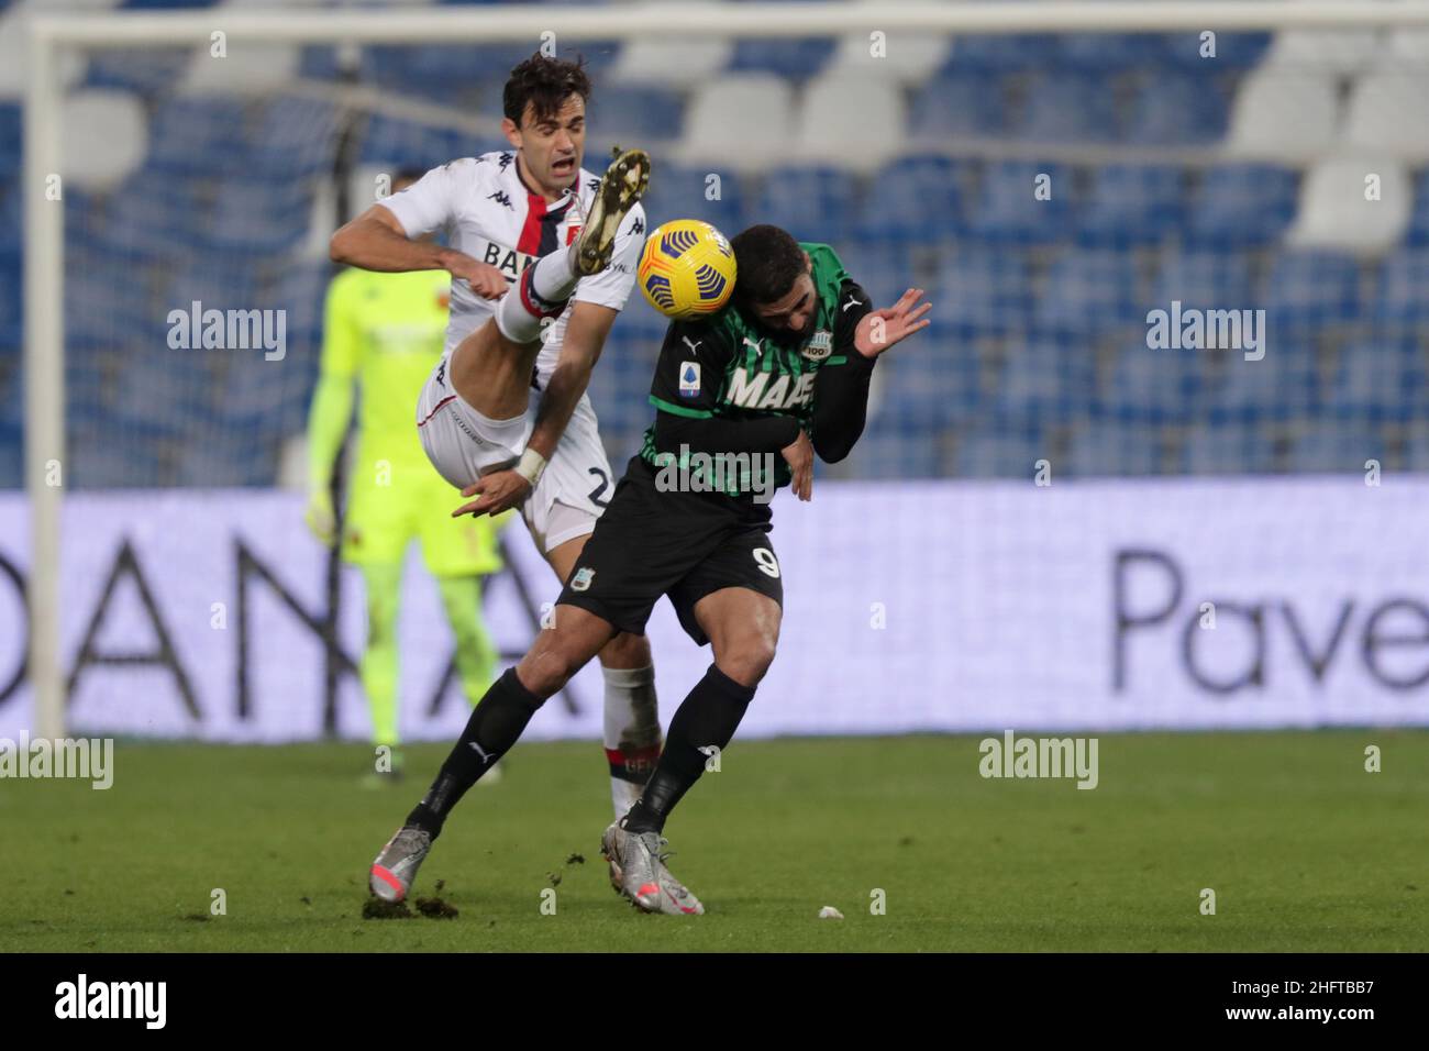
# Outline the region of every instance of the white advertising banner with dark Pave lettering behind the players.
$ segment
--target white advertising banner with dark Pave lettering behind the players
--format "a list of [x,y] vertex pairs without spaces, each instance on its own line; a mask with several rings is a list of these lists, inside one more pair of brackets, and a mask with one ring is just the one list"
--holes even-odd
[[[303,502],[259,490],[91,492],[64,510],[74,732],[362,739],[362,579]],[[1429,479],[822,482],[775,500],[779,656],[740,736],[912,731],[1429,725]],[[0,495],[0,736],[31,728],[27,503]],[[507,663],[559,593],[520,523],[486,619]],[[452,639],[416,549],[402,721],[457,734]],[[332,631],[326,625],[332,622]],[[326,636],[333,643],[324,642]],[[667,721],[710,662],[650,622]],[[446,682],[444,682],[446,681]],[[443,688],[444,682],[444,688]],[[529,738],[600,736],[594,665]]]

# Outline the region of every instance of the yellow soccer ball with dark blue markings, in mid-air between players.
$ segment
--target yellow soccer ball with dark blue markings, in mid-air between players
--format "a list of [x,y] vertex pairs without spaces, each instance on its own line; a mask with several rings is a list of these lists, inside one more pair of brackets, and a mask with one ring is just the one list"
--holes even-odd
[[666,317],[710,315],[735,290],[735,250],[709,223],[676,219],[650,233],[636,282],[650,306]]

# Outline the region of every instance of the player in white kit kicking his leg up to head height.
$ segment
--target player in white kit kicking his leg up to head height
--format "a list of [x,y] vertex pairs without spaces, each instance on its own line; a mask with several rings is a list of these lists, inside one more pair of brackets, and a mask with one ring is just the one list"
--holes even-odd
[[[452,275],[446,353],[417,405],[423,446],[463,496],[477,496],[454,513],[520,506],[562,583],[613,490],[586,383],[634,285],[649,179],[640,150],[617,156],[604,179],[582,167],[589,97],[579,61],[527,59],[503,92],[510,150],[427,172],[330,246],[334,262],[369,270]],[[419,240],[437,229],[444,247]],[[663,744],[650,643],[622,633],[600,665],[623,816]]]

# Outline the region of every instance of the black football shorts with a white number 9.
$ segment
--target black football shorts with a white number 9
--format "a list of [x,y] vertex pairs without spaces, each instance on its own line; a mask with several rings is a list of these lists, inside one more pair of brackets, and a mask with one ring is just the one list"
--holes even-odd
[[740,516],[733,500],[717,495],[660,492],[653,478],[643,460],[630,462],[559,605],[643,635],[654,603],[669,595],[680,626],[702,646],[709,636],[694,621],[694,603],[712,592],[749,588],[783,606],[767,518]]

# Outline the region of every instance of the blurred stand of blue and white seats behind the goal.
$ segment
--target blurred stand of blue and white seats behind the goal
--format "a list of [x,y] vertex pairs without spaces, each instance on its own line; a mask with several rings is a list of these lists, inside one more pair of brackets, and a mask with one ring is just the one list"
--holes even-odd
[[[19,7],[0,16],[0,486],[21,485]],[[653,152],[652,224],[772,222],[833,243],[877,302],[927,289],[952,352],[889,360],[859,455],[830,473],[1429,469],[1423,31],[1222,33],[1215,60],[1189,31],[895,34],[876,60],[816,30],[559,50],[596,82],[587,167],[613,142]],[[297,480],[334,173],[357,210],[373,172],[504,146],[500,87],[534,47],[237,50],[226,69],[173,49],[67,69],[73,488]],[[344,86],[377,94],[349,104]],[[1366,224],[1339,193],[1346,149],[1388,154],[1385,196],[1412,204]],[[1263,306],[1275,353],[1239,370],[1147,353],[1146,310],[1172,299]],[[283,367],[170,352],[164,317],[190,300],[284,307]],[[662,327],[634,296],[592,380],[613,463],[649,422]]]

